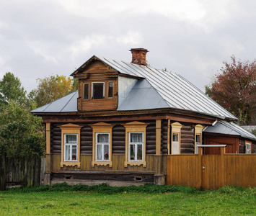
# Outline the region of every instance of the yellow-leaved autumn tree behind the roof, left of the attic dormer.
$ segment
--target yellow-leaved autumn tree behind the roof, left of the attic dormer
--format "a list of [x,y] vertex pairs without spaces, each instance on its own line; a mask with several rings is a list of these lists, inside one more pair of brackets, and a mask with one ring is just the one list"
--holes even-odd
[[71,78],[63,75],[38,78],[37,81],[37,89],[32,90],[28,95],[30,100],[35,100],[37,107],[53,102],[78,88],[77,81],[72,81]]

